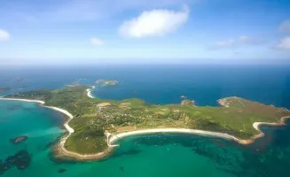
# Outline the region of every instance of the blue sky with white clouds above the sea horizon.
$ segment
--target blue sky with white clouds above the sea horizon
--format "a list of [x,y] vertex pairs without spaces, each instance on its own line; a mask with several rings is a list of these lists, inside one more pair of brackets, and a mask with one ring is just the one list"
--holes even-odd
[[290,63],[289,0],[0,0],[0,65]]

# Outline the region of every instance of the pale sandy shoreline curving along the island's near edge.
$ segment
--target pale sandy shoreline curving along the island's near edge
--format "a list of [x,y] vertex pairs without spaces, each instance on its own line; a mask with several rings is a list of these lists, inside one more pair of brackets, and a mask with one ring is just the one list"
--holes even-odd
[[[93,87],[94,88],[94,87]],[[87,96],[90,95],[90,89],[87,89]],[[111,154],[114,150],[114,147],[117,147],[119,145],[114,145],[112,144],[113,142],[117,141],[118,139],[122,139],[128,136],[132,135],[149,135],[149,134],[158,134],[158,133],[181,133],[181,134],[194,134],[194,135],[205,135],[205,136],[212,136],[212,137],[219,137],[235,142],[239,142],[240,144],[250,144],[252,142],[255,142],[255,139],[263,137],[264,133],[261,131],[259,128],[260,126],[284,126],[286,119],[290,119],[290,116],[285,116],[280,119],[279,122],[276,123],[268,123],[268,122],[254,122],[253,127],[259,131],[260,133],[258,135],[254,135],[250,137],[247,140],[242,140],[239,138],[236,138],[233,135],[228,135],[225,133],[219,133],[219,132],[211,132],[211,131],[206,131],[206,130],[199,130],[199,129],[188,129],[188,128],[156,128],[156,129],[144,129],[144,130],[135,130],[135,131],[129,131],[129,132],[122,132],[117,135],[113,135],[111,133],[106,133],[106,139],[107,139],[107,145],[108,148],[104,150],[103,152],[98,152],[95,154],[80,154],[74,151],[67,150],[65,148],[65,142],[67,141],[67,138],[74,133],[74,128],[68,126],[68,122],[71,119],[74,119],[74,116],[70,113],[67,112],[64,109],[54,107],[54,106],[46,106],[44,105],[45,102],[41,100],[31,100],[31,99],[19,99],[19,98],[4,98],[0,97],[0,100],[10,100],[10,101],[24,101],[24,102],[31,102],[31,103],[37,103],[40,104],[40,106],[43,106],[45,108],[52,109],[56,112],[61,112],[65,114],[69,119],[65,122],[63,125],[66,127],[68,135],[65,135],[60,138],[60,141],[56,145],[55,148],[55,157],[57,158],[74,158],[75,160],[98,160],[102,158],[106,158],[109,154]],[[223,104],[221,104],[223,105]],[[224,106],[224,105],[223,105]]]

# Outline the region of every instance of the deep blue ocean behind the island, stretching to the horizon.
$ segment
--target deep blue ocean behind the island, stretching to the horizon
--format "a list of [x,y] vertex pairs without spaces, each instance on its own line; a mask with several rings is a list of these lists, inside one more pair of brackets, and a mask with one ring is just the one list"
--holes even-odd
[[[226,96],[290,108],[290,65],[96,65],[1,68],[0,87],[10,94],[35,89],[59,89],[79,81],[117,80],[99,87],[95,96],[108,99],[138,97],[149,104],[178,104],[187,96],[197,105],[217,105]],[[22,81],[12,81],[20,77]],[[26,88],[17,88],[27,86]]]

